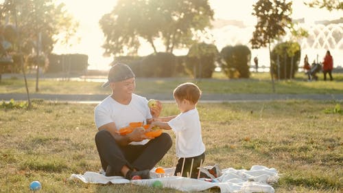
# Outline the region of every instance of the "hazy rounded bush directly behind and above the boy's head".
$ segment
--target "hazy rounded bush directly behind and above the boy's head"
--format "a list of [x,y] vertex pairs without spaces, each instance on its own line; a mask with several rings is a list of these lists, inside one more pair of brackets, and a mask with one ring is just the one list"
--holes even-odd
[[211,78],[218,57],[219,52],[215,45],[196,43],[187,54],[186,71],[195,78]]

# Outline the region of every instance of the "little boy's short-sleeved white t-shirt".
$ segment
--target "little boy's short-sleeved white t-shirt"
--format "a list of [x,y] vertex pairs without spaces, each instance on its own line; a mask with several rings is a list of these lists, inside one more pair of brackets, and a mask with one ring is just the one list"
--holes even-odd
[[197,109],[180,113],[168,124],[176,135],[177,157],[196,157],[205,152]]

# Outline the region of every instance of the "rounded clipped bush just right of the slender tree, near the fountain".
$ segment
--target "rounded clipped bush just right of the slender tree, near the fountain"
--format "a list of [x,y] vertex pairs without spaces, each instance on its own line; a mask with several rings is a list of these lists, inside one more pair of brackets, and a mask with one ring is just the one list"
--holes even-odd
[[275,78],[294,78],[300,61],[300,45],[293,42],[279,43],[272,50],[271,58],[272,73]]

